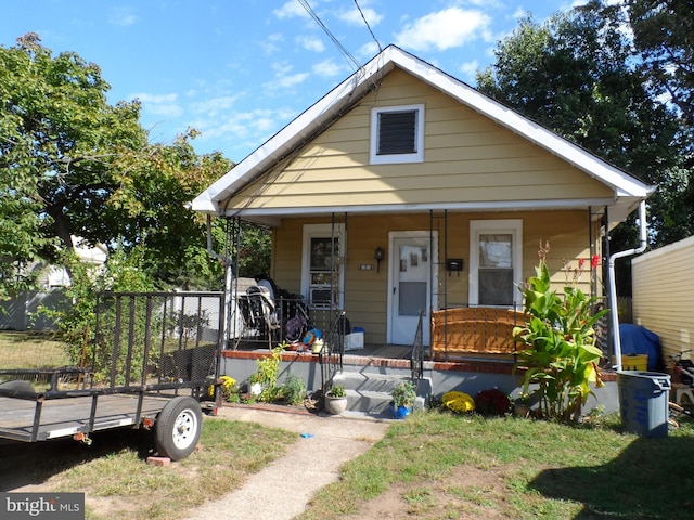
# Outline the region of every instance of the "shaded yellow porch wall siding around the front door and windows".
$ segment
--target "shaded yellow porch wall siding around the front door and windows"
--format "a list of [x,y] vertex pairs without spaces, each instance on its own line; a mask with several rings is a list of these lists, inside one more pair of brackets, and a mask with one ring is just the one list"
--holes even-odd
[[[340,216],[342,218],[342,216]],[[439,306],[445,304],[444,295],[448,294],[450,307],[467,303],[470,266],[470,221],[480,219],[522,219],[524,227],[523,277],[535,275],[538,262],[538,245],[548,237],[550,244],[548,265],[557,291],[570,280],[573,272],[562,271],[564,260],[569,260],[570,269],[578,259],[586,259],[584,272],[579,284],[582,290],[590,291],[590,247],[586,229],[586,211],[523,211],[503,213],[449,213],[448,237],[445,236],[445,220],[440,212],[434,217],[434,229],[439,234],[439,286],[436,288]],[[281,287],[291,292],[299,292],[301,278],[303,227],[305,224],[330,223],[330,218],[283,219],[274,230],[274,257],[272,277]],[[352,326],[367,330],[365,341],[382,344],[386,341],[386,312],[388,290],[388,266],[391,252],[388,250],[388,233],[393,231],[429,231],[428,213],[360,216],[348,214],[347,251],[345,261],[345,310]],[[444,269],[447,240],[448,258],[462,258],[463,272],[451,273]],[[374,250],[382,247],[385,258],[381,271],[376,271]],[[362,271],[361,264],[371,264],[373,270]],[[522,301],[518,300],[520,304]],[[428,326],[428,324],[426,324]]]

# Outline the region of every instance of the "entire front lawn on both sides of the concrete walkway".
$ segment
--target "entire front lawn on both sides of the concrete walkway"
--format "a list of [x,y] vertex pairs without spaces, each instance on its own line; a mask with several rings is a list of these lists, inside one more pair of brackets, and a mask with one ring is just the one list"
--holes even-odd
[[[164,520],[237,489],[297,437],[208,417],[203,448],[169,467],[145,463],[152,442],[139,430],[95,434],[91,447],[0,445],[0,491],[38,483],[85,492],[89,520]],[[373,508],[387,499],[389,518],[689,519],[692,453],[689,417],[667,438],[647,439],[620,433],[616,416],[566,426],[419,412],[348,461],[298,518],[383,518]],[[292,489],[279,484],[278,493]]]

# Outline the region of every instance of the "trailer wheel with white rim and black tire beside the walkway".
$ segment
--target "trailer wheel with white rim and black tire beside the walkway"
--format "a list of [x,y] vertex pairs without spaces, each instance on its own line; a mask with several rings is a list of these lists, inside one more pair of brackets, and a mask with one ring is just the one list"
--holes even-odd
[[154,425],[154,444],[159,455],[171,460],[188,457],[197,445],[203,425],[200,403],[188,396],[166,403]]

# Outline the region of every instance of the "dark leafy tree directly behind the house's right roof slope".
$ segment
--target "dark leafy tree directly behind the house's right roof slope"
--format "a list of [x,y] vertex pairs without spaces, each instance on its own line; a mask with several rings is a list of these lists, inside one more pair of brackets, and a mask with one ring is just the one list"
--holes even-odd
[[[658,186],[648,200],[654,245],[694,234],[687,198],[687,143],[676,110],[648,89],[619,6],[600,1],[531,17],[501,41],[478,88],[643,182]],[[632,247],[635,226],[621,226],[613,247]]]

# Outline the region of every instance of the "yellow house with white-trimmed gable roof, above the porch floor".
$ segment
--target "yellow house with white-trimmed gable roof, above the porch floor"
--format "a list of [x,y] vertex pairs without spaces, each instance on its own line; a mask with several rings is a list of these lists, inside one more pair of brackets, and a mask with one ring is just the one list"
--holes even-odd
[[192,208],[271,226],[279,286],[411,346],[421,310],[522,306],[541,243],[557,289],[581,261],[601,294],[590,259],[652,191],[390,46]]

